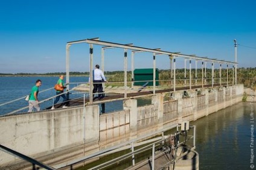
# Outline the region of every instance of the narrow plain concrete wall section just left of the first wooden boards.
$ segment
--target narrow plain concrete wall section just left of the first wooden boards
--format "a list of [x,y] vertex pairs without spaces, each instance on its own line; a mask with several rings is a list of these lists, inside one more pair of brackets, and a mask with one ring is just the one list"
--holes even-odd
[[85,142],[100,140],[100,108],[98,105],[85,107]]

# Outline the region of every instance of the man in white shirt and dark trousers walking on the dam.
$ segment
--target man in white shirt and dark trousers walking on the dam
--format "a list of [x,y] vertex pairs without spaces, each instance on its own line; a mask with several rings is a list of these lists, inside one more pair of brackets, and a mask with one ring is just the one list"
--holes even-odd
[[102,99],[104,98],[103,95],[103,87],[102,87],[102,83],[101,82],[107,82],[103,71],[100,70],[100,66],[99,65],[95,65],[95,69],[92,72],[92,78],[94,80],[94,89],[92,90],[93,93],[96,93],[98,90],[98,99]]

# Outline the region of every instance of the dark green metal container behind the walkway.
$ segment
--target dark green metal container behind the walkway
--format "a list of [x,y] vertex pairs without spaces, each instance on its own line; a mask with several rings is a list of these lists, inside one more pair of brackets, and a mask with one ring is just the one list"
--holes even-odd
[[[153,86],[153,69],[135,69],[134,72],[134,86],[143,86],[145,83],[149,82],[147,86]],[[159,85],[159,71],[156,69],[156,86]]]

